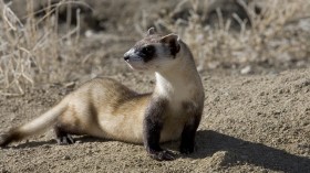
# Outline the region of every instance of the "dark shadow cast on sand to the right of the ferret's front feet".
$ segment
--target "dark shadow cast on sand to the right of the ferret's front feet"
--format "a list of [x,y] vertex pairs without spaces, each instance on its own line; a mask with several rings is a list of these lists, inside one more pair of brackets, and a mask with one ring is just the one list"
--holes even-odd
[[[283,150],[229,137],[210,130],[202,130],[196,137],[197,151],[190,158],[203,159],[218,151],[230,153],[230,163],[248,163],[273,171],[310,173],[310,159],[290,154]],[[231,156],[230,155],[230,156]],[[227,162],[226,161],[226,162]]]

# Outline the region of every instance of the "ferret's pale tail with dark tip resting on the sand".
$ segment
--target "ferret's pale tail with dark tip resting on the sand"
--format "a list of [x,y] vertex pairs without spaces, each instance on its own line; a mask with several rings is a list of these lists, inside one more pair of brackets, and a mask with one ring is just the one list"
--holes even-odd
[[44,112],[42,116],[33,119],[32,121],[24,123],[18,128],[9,130],[7,133],[0,136],[0,147],[6,147],[13,141],[20,141],[27,137],[38,134],[45,131],[53,126],[58,117],[62,115],[68,107],[68,101],[63,99],[52,109]]

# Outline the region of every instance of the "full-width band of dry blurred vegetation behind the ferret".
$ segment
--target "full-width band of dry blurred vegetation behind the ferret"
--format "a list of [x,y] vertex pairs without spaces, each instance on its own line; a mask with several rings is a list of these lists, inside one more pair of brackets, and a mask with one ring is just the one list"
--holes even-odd
[[308,0],[1,0],[0,95],[127,72],[155,26],[190,46],[199,72],[273,74],[310,65]]

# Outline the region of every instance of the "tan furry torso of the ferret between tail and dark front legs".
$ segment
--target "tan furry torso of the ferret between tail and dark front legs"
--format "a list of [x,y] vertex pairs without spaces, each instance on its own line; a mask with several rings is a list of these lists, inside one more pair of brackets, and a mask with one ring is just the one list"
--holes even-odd
[[[143,109],[148,96],[141,96],[110,78],[96,78],[68,96],[61,123],[73,132],[127,142],[142,142]],[[134,126],[133,126],[134,125]]]

